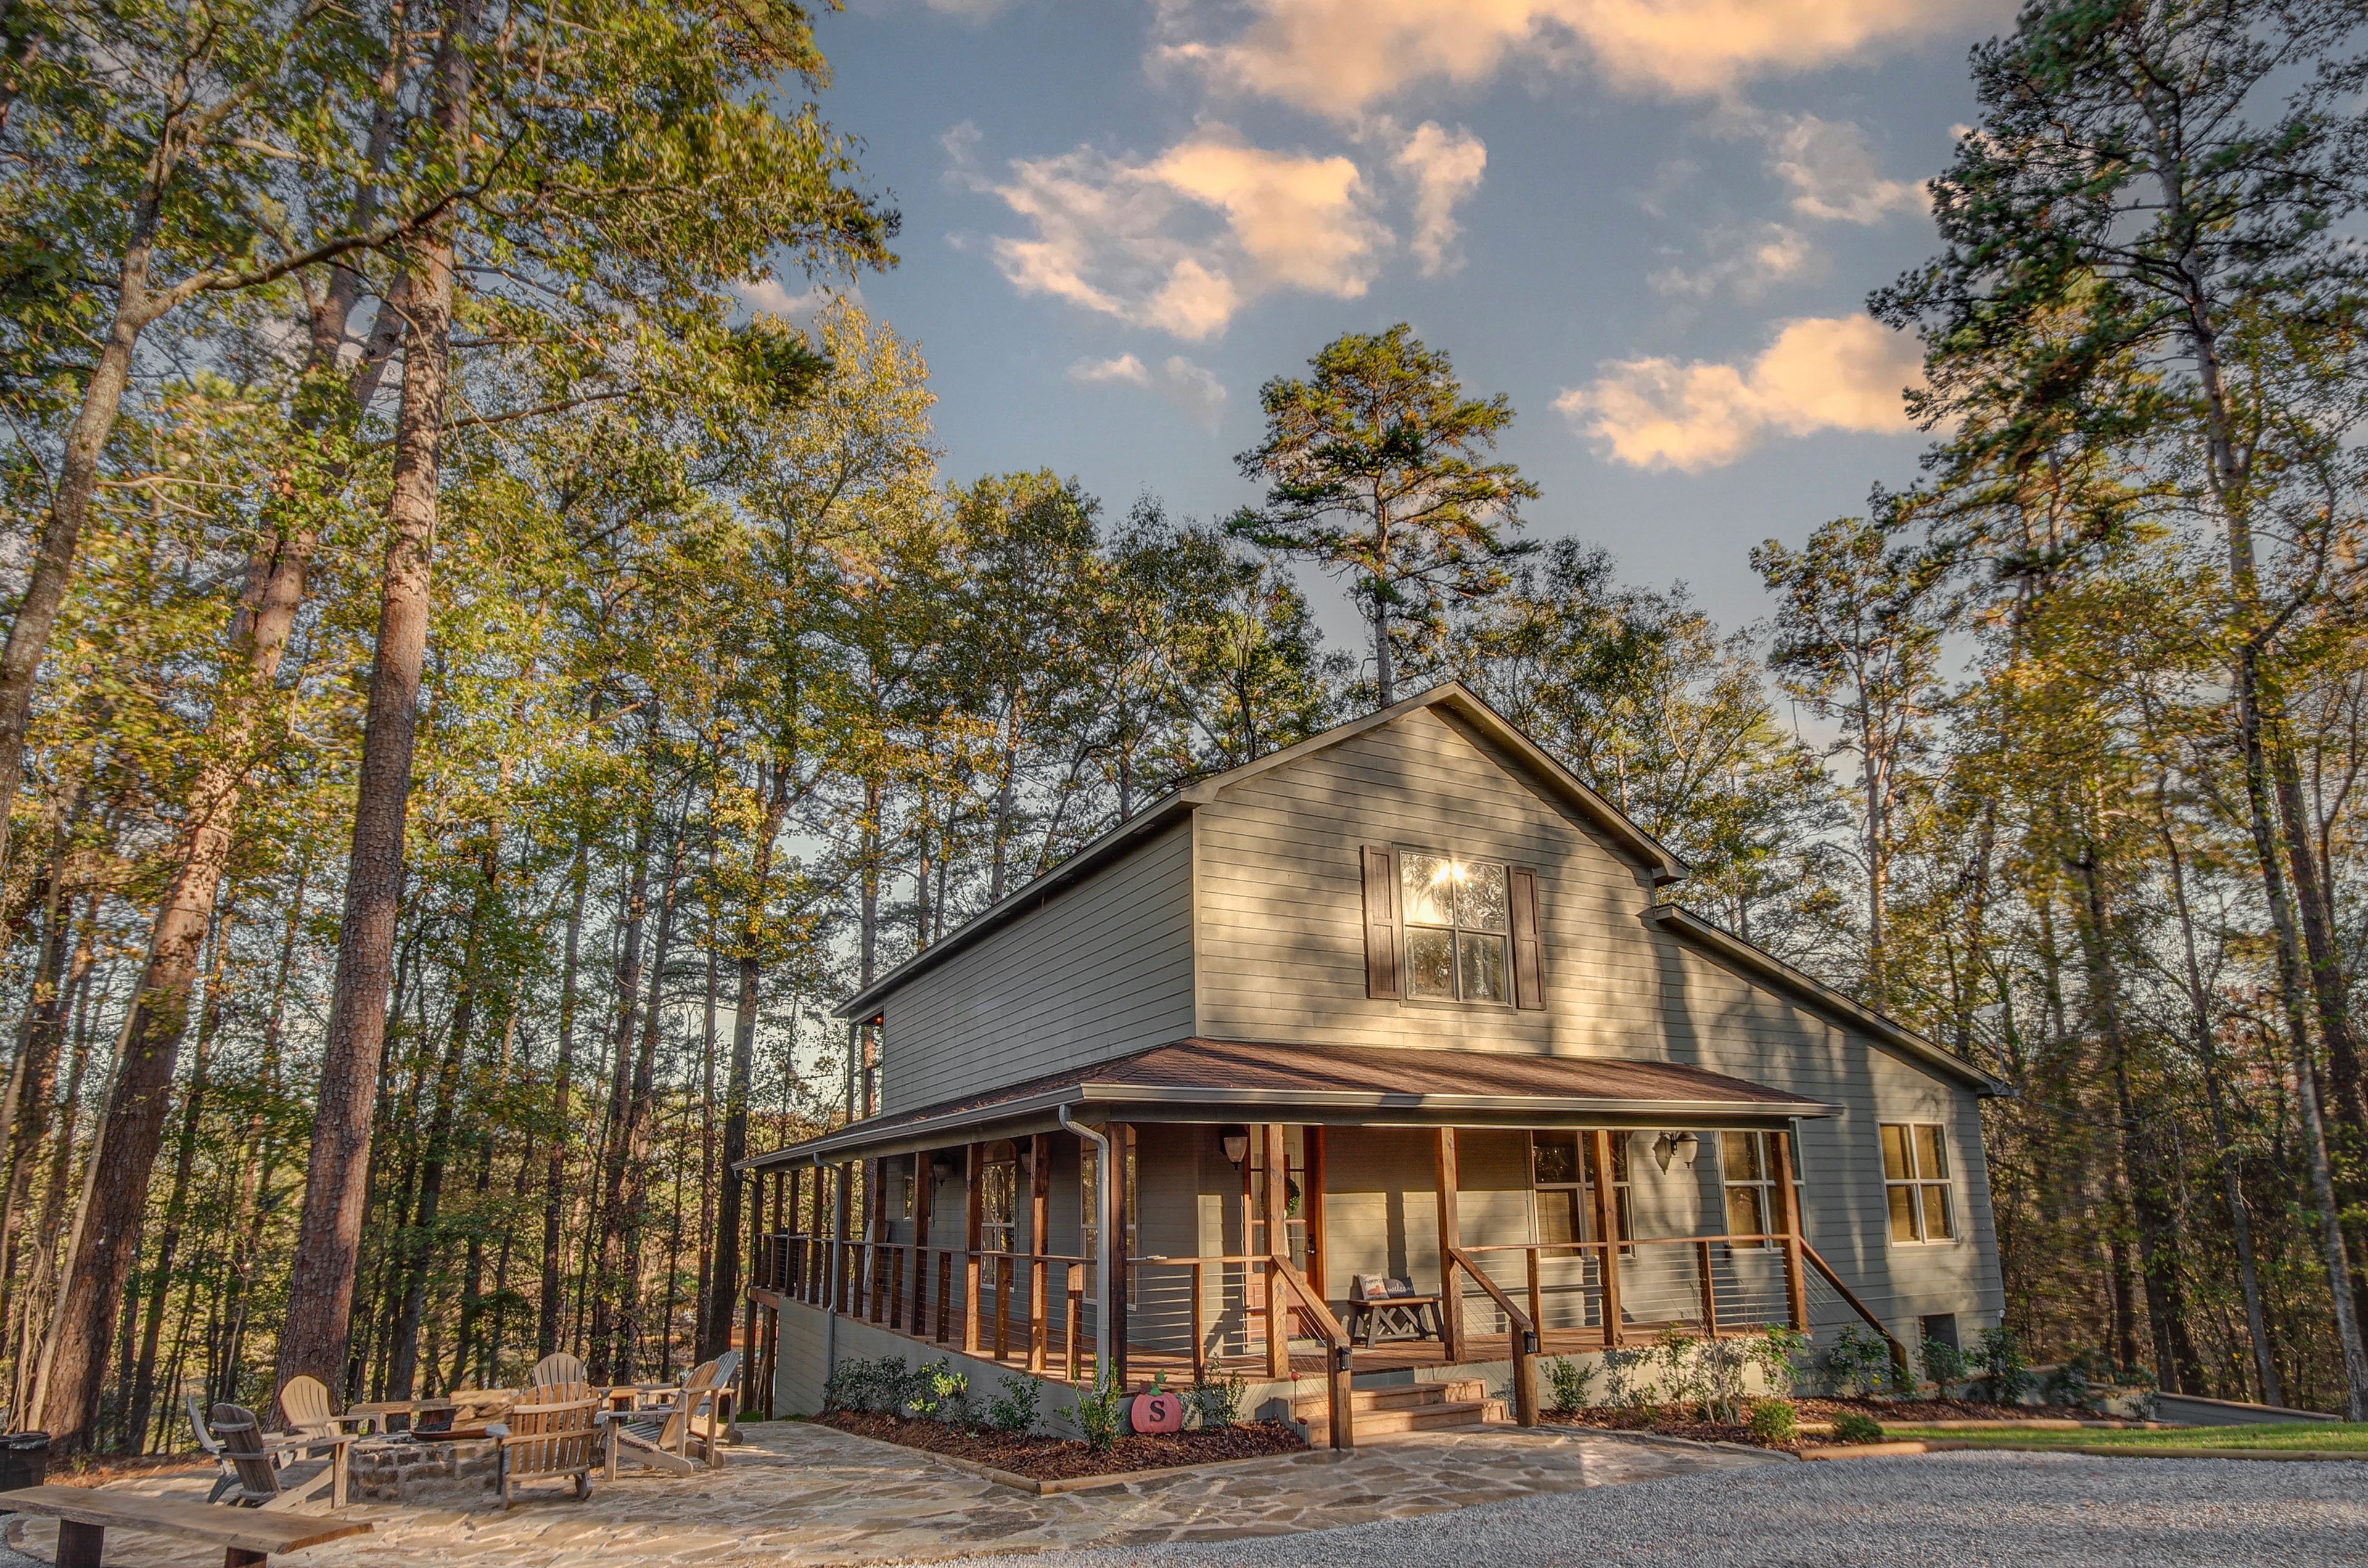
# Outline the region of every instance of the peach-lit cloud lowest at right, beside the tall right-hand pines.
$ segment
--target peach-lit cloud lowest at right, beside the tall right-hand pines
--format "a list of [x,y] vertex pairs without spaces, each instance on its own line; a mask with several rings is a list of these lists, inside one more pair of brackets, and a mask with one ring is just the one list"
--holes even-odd
[[1745,367],[1615,360],[1553,400],[1615,462],[1717,469],[1769,433],[1904,433],[1902,391],[1923,379],[1916,343],[1866,315],[1785,322]]

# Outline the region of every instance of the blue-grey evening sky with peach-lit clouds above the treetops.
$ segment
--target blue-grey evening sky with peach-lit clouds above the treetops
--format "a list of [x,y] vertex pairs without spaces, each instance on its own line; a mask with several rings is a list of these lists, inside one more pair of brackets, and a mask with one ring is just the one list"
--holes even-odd
[[1224,514],[1260,384],[1399,320],[1511,396],[1534,538],[1724,625],[1764,613],[1757,540],[1913,478],[1913,355],[1864,296],[1932,246],[1999,0],[848,5],[824,109],[905,213],[860,289],[928,358],[950,478]]

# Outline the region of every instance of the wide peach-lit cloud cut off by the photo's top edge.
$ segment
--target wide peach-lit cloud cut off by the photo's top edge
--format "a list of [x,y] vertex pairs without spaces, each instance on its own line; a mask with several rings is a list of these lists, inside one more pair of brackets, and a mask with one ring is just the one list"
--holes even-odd
[[[1248,26],[1212,36],[1203,14]],[[1857,59],[2010,12],[2008,0],[1172,0],[1156,59],[1215,83],[1354,116],[1421,81],[1475,85],[1508,62],[1579,59],[1662,92],[1726,92],[1748,76]],[[1222,26],[1222,24],[1220,24]]]

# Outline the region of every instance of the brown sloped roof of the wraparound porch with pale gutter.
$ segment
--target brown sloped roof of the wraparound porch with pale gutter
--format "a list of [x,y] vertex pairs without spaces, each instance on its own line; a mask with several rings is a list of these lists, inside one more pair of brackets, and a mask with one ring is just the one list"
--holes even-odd
[[1177,1040],[990,1094],[874,1116],[739,1170],[942,1149],[1101,1123],[1291,1120],[1362,1127],[1781,1127],[1835,1108],[1802,1094],[1620,1056]]

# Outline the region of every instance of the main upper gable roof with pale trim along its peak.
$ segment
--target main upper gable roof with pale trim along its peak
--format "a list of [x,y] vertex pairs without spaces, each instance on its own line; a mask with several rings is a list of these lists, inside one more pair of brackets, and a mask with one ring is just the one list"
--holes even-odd
[[1002,902],[980,910],[961,926],[954,926],[921,952],[912,955],[881,978],[871,981],[871,985],[862,988],[857,995],[848,997],[836,1009],[831,1009],[831,1016],[869,1018],[879,1009],[879,1004],[888,997],[888,992],[893,992],[895,988],[905,985],[914,976],[926,973],[928,969],[935,969],[938,964],[954,957],[964,947],[978,943],[983,936],[1002,926],[1009,926],[1021,914],[1042,910],[1054,893],[1061,893],[1063,888],[1092,876],[1103,865],[1122,857],[1127,850],[1137,848],[1146,838],[1153,838],[1156,834],[1175,827],[1177,822],[1189,817],[1196,808],[1215,801],[1227,789],[1255,779],[1260,775],[1274,772],[1279,767],[1291,767],[1300,758],[1338,746],[1340,741],[1352,741],[1371,730],[1395,725],[1409,713],[1421,713],[1421,711],[1452,713],[1456,720],[1471,725],[1482,737],[1487,737],[1494,746],[1508,751],[1525,770],[1530,770],[1532,775],[1530,784],[1539,789],[1539,793],[1563,801],[1582,817],[1587,817],[1591,824],[1603,829],[1603,834],[1610,836],[1615,843],[1620,843],[1624,850],[1636,855],[1650,869],[1655,886],[1679,881],[1686,874],[1686,862],[1672,855],[1667,846],[1653,838],[1653,834],[1636,827],[1617,805],[1598,796],[1575,772],[1556,763],[1551,753],[1546,753],[1537,741],[1523,734],[1508,718],[1504,718],[1485,701],[1480,701],[1471,692],[1471,687],[1466,687],[1459,680],[1449,680],[1444,685],[1430,687],[1428,692],[1418,692],[1414,696],[1407,696],[1404,701],[1390,703],[1388,708],[1376,708],[1364,718],[1354,718],[1345,725],[1333,725],[1324,734],[1312,734],[1305,741],[1298,741],[1295,746],[1283,746],[1281,751],[1272,751],[1257,758],[1255,763],[1243,763],[1241,767],[1210,775],[1198,784],[1189,784],[1170,796],[1163,796],[1160,801],[1151,803],[1134,817],[1127,817],[1118,827],[1103,831],[1099,838],[1092,838],[1075,855],[1070,855],[1054,869],[1044,872],[1028,886],[1004,895]]

